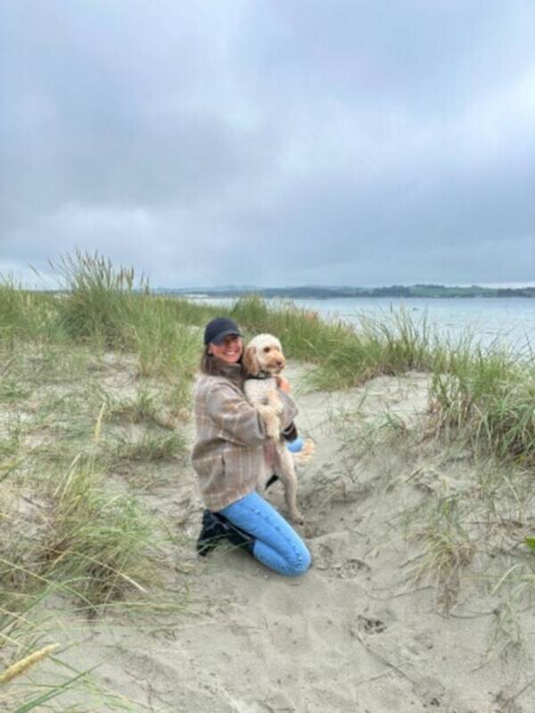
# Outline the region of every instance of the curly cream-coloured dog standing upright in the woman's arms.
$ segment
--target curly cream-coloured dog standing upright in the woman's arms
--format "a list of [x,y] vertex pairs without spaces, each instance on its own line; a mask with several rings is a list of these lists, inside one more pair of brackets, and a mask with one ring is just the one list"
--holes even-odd
[[[279,340],[272,334],[254,337],[243,352],[243,366],[247,372],[244,382],[245,397],[258,410],[269,441],[267,455],[272,461],[273,472],[284,484],[284,496],[293,522],[304,522],[297,507],[297,476],[292,454],[281,437],[283,405],[277,394],[276,376],[284,370],[286,360]],[[266,483],[259,483],[264,489]]]

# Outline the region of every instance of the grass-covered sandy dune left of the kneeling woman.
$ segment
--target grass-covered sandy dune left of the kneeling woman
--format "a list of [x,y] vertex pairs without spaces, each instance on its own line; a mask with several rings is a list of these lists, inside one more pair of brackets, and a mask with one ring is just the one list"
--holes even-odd
[[[60,709],[93,700],[95,709],[138,709],[55,653],[35,658],[51,651],[57,627],[40,602],[64,612],[68,646],[77,635],[65,625],[69,612],[176,617],[189,605],[186,583],[163,584],[175,569],[177,533],[146,509],[121,463],[137,459],[158,484],[159,463],[184,455],[196,332],[173,307],[131,289],[128,274],[115,280],[109,263],[97,261],[91,283],[89,264],[68,293],[0,286],[3,709],[48,709],[56,698],[70,701]],[[53,672],[52,684],[35,678],[41,668]]]

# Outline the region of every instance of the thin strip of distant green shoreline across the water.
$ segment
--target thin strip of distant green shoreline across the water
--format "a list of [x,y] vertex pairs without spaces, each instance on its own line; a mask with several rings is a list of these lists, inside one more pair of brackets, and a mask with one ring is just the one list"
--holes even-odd
[[177,295],[185,298],[240,298],[248,295],[259,295],[266,299],[342,299],[342,298],[370,298],[370,297],[390,297],[390,298],[505,298],[523,297],[535,298],[535,287],[523,288],[492,288],[479,287],[445,287],[443,285],[416,284],[411,286],[392,285],[391,287],[217,287],[213,289],[202,288],[165,288],[159,287],[155,290],[158,294]]

